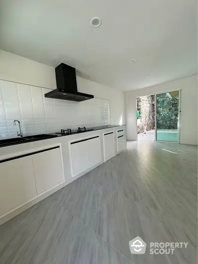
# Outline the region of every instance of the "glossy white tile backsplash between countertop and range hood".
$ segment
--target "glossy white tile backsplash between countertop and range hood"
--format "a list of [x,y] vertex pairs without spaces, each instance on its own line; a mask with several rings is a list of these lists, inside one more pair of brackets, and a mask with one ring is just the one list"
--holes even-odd
[[75,103],[45,98],[49,89],[0,80],[0,139],[17,137],[21,122],[23,134],[54,133],[61,128],[110,124],[109,101],[94,98]]

